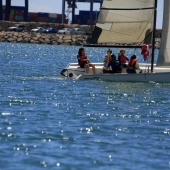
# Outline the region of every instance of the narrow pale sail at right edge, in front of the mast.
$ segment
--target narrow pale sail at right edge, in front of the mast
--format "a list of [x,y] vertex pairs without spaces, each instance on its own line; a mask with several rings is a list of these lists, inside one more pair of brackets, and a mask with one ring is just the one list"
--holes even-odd
[[157,66],[170,66],[170,0],[164,0],[163,28]]

